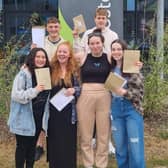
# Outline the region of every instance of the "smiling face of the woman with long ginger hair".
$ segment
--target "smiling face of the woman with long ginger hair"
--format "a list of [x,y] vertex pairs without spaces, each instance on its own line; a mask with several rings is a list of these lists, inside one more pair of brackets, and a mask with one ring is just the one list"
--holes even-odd
[[60,64],[67,64],[70,58],[70,50],[69,47],[65,44],[62,44],[57,49],[57,59]]

